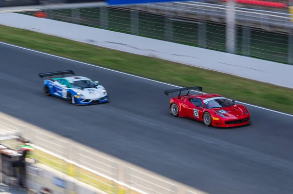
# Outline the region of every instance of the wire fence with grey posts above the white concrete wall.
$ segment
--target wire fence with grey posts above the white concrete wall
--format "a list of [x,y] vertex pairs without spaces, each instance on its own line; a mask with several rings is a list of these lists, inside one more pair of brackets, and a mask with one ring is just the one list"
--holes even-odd
[[[227,51],[227,6],[197,3],[190,7],[176,5],[163,9],[162,5],[148,4],[131,8],[96,7],[47,12],[49,19]],[[236,54],[292,64],[290,35],[293,25],[289,14],[237,8],[236,18]]]

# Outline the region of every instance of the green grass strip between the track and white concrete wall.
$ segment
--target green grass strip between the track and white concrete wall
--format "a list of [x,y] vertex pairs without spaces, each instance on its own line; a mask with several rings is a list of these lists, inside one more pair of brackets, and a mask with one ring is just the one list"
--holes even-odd
[[0,41],[293,114],[289,88],[2,25]]

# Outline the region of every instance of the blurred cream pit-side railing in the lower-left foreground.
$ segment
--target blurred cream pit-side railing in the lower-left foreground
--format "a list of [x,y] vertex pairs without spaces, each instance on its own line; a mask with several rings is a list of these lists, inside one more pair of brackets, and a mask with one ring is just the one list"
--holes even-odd
[[131,194],[206,194],[1,112],[0,127],[20,132],[41,147],[47,153],[47,156],[42,155],[45,165],[65,174],[68,173],[68,163],[76,165],[81,170],[73,172],[75,178],[109,194],[116,194],[114,187],[117,184],[127,188],[126,191],[132,190]]

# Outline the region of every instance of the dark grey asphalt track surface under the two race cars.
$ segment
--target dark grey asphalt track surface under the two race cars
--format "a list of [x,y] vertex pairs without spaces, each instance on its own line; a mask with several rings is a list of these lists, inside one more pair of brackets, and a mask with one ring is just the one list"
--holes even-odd
[[[247,106],[253,123],[205,127],[169,115],[162,83],[0,44],[0,110],[210,194],[292,194],[293,117]],[[38,73],[73,70],[111,102],[45,97]]]

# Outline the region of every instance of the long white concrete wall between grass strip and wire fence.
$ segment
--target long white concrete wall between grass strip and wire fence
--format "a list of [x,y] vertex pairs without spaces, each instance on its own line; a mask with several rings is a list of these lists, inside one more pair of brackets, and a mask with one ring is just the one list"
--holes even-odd
[[292,65],[16,13],[0,24],[293,88]]

